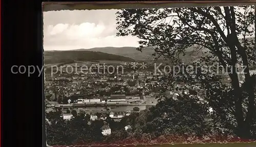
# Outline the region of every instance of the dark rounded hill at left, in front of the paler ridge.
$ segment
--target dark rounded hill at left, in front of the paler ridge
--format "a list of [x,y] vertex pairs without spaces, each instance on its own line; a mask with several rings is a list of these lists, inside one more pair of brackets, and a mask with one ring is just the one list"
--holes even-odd
[[97,60],[114,60],[114,61],[135,61],[129,57],[107,54],[93,51],[45,51],[45,64],[67,63],[72,61],[97,61]]

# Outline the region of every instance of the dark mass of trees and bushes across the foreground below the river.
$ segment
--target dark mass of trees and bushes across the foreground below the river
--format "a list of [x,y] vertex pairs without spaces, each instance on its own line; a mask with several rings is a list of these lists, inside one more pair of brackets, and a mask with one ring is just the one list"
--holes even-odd
[[[91,121],[89,115],[80,113],[71,121],[61,118],[61,112],[46,115],[48,145],[71,144],[125,144],[125,143],[181,143],[248,141],[236,137],[234,130],[222,126],[218,115],[208,110],[207,103],[196,97],[180,95],[177,99],[163,98],[155,107],[125,116],[115,122],[107,115],[105,121]],[[90,122],[89,122],[90,121]],[[111,135],[103,136],[101,127],[108,124]],[[225,124],[223,122],[223,124]],[[130,130],[124,127],[130,125]],[[252,137],[256,138],[256,129]]]

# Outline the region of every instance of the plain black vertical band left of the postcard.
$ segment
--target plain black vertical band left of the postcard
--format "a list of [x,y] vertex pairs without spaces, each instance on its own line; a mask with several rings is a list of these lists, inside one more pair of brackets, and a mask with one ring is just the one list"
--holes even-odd
[[13,65],[42,67],[41,2],[6,0],[2,1],[1,10],[1,143],[2,146],[45,146],[42,144],[42,75],[38,77],[38,71],[30,77],[27,71],[11,72]]

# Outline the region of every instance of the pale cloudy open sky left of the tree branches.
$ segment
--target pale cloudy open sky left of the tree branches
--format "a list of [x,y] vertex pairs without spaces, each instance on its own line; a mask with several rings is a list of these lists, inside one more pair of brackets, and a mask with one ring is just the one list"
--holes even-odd
[[116,12],[114,9],[44,12],[44,50],[138,47],[138,38],[116,36]]

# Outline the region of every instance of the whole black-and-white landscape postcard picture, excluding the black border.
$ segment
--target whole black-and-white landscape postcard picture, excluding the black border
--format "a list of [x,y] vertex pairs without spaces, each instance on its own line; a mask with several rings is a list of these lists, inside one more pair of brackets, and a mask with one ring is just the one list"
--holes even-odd
[[256,140],[253,5],[42,19],[47,145]]

